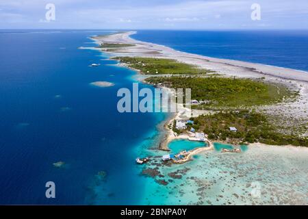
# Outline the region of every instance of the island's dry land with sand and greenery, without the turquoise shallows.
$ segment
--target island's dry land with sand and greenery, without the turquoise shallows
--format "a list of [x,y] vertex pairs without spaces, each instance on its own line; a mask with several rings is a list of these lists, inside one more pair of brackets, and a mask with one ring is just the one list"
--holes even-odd
[[[166,123],[160,149],[175,138],[205,133],[230,144],[263,143],[308,146],[308,73],[287,68],[223,60],[175,51],[134,40],[136,32],[92,39],[120,65],[137,70],[144,83],[163,88],[191,88],[192,112],[182,106]],[[112,49],[112,51],[110,51]],[[177,120],[192,120],[177,129]],[[233,130],[231,130],[233,128]]]

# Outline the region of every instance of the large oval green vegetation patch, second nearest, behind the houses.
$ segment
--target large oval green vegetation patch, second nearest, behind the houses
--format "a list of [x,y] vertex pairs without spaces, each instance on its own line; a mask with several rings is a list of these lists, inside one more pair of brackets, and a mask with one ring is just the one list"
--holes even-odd
[[281,85],[230,77],[149,77],[145,81],[169,88],[191,88],[192,99],[206,102],[198,108],[264,105],[293,95]]

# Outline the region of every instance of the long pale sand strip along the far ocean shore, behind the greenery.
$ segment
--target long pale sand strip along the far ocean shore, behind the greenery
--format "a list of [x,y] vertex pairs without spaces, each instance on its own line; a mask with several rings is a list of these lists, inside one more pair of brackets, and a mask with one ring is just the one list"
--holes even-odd
[[[93,39],[97,42],[97,44],[101,43],[135,44],[136,45],[135,47],[123,47],[119,48],[116,51],[116,53],[125,53],[125,55],[128,56],[168,57],[178,60],[179,62],[196,64],[203,68],[216,70],[218,71],[218,73],[230,74],[239,77],[240,76],[263,77],[264,75],[270,75],[283,79],[292,79],[292,80],[308,82],[307,72],[303,72],[300,70],[280,68],[276,66],[268,66],[265,64],[255,64],[255,63],[242,62],[236,60],[218,59],[214,57],[207,57],[192,53],[184,53],[159,44],[134,40],[133,38],[130,37],[133,34],[136,34],[136,32],[129,31],[120,34],[103,36],[101,38],[95,37]],[[113,53],[115,52],[113,51]]]

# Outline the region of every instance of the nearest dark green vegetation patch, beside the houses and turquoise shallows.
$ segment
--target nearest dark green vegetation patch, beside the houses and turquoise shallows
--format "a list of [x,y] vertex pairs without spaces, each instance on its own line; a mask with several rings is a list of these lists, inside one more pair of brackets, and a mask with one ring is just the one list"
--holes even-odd
[[[300,138],[294,135],[285,135],[277,132],[274,125],[268,123],[263,114],[248,112],[218,112],[211,115],[201,115],[194,120],[194,129],[204,131],[211,140],[227,140],[230,143],[261,142],[272,145],[308,146],[308,138]],[[238,131],[229,131],[229,127],[235,127]],[[189,127],[188,127],[189,129]]]

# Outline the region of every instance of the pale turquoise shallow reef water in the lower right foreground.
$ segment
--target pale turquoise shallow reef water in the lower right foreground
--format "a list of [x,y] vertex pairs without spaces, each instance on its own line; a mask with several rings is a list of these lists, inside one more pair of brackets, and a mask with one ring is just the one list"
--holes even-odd
[[[181,140],[169,145],[180,150],[181,143],[188,145]],[[205,151],[181,165],[162,165],[157,159],[144,167],[158,173],[147,178],[141,201],[144,205],[307,204],[307,156],[305,148],[253,145],[245,153]]]

